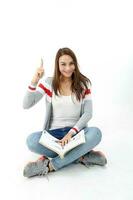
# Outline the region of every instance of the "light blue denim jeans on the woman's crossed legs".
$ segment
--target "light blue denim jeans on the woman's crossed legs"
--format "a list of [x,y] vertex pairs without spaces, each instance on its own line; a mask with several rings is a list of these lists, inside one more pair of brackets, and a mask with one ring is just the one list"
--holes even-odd
[[[54,137],[62,139],[71,128],[72,127],[64,127],[60,129],[48,130],[48,132]],[[91,151],[101,141],[102,133],[99,128],[86,127],[84,128],[84,131],[86,142],[69,151],[63,159],[61,159],[57,153],[39,143],[42,131],[30,134],[27,138],[27,146],[34,153],[50,157],[53,168],[58,170],[69,165],[70,163],[75,162],[81,156]]]

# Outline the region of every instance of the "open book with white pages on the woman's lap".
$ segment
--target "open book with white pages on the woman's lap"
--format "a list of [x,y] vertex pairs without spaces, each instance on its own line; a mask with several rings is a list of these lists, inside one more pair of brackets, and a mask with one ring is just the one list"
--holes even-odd
[[56,152],[62,159],[68,151],[80,144],[85,143],[84,130],[81,130],[78,134],[73,136],[68,142],[68,144],[65,144],[65,146],[63,147],[60,143],[58,143],[58,141],[59,139],[53,137],[50,133],[44,130],[40,137],[39,143],[47,147],[48,149],[51,149],[52,151]]

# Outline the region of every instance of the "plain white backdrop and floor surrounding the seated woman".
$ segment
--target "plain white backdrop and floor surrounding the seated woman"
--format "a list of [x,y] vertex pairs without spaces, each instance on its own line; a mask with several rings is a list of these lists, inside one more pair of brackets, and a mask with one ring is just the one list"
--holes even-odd
[[[1,196],[4,199],[133,199],[133,6],[129,0],[0,1]],[[28,134],[41,130],[44,100],[29,110],[22,101],[44,59],[51,76],[55,54],[69,47],[92,81],[90,126],[103,132],[96,149],[105,168],[72,165],[46,178],[27,180],[23,167],[38,156]]]

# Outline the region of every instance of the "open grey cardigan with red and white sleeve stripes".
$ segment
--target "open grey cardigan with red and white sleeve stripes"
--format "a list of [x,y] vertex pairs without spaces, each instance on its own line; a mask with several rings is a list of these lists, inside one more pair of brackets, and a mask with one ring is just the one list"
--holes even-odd
[[[72,127],[70,131],[73,134],[78,133],[83,128],[87,127],[88,121],[92,117],[92,100],[91,100],[91,88],[90,84],[87,85],[88,89],[84,89],[81,99],[81,113],[77,123]],[[23,108],[28,109],[34,106],[43,96],[45,96],[46,102],[46,116],[43,124],[43,130],[49,130],[50,117],[52,112],[52,78],[48,77],[41,79],[37,85],[29,85],[26,94],[23,99]]]

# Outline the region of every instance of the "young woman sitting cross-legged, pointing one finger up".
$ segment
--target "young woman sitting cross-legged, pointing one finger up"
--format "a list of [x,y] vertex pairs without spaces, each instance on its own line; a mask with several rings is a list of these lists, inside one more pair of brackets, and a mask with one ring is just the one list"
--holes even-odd
[[42,131],[32,133],[27,138],[28,148],[41,155],[35,162],[24,168],[25,177],[45,175],[70,163],[104,166],[107,160],[100,151],[93,148],[101,141],[101,131],[97,127],[88,127],[92,117],[91,82],[78,67],[77,58],[69,48],[59,49],[55,58],[53,77],[44,76],[43,62],[36,70],[23,100],[23,107],[35,105],[44,95],[46,116],[43,130],[60,140],[60,145],[67,144],[73,135],[82,129],[86,142],[69,151],[63,159],[55,152],[39,143]]

